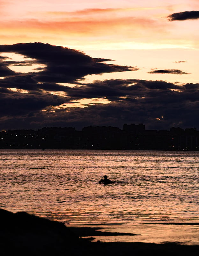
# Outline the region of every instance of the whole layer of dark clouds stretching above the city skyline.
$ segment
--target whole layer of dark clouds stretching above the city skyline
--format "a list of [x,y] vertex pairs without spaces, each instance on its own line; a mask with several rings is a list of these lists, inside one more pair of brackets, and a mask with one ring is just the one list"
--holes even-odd
[[[166,81],[109,79],[85,83],[84,76],[138,68],[105,64],[76,50],[49,44],[0,45],[0,52],[32,58],[23,61],[0,58],[0,129],[37,129],[43,126],[73,126],[144,123],[147,129],[172,126],[197,127],[199,84]],[[22,63],[21,63],[22,62]],[[12,64],[43,64],[38,72],[17,73]],[[186,74],[178,69],[157,73]],[[73,83],[70,84],[62,83]],[[81,100],[95,104],[73,106]],[[106,100],[107,103],[103,103]],[[67,106],[67,107],[66,107]]]

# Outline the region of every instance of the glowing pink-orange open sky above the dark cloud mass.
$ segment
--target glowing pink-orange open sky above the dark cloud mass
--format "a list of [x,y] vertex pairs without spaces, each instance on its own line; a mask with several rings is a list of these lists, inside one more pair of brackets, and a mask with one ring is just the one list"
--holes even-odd
[[[150,4],[127,0],[75,0],[72,3],[1,0],[0,7],[0,44],[42,42],[61,45],[84,51],[92,57],[114,59],[115,64],[139,66],[142,69],[132,74],[134,78],[181,83],[197,80],[199,21],[171,22],[166,18],[175,12],[198,10],[197,0],[153,0]],[[183,65],[173,63],[184,59],[187,62]],[[179,79],[173,74],[160,78],[158,74],[149,74],[150,68],[179,68],[191,74],[178,76]],[[129,75],[123,74],[121,78]],[[111,74],[111,78],[113,76],[117,74]],[[110,78],[107,74],[106,77]]]

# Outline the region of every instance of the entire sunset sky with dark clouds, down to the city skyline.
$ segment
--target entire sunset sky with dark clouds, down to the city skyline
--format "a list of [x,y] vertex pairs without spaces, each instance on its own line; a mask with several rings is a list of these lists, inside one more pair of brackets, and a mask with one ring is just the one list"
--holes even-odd
[[198,0],[0,0],[0,130],[199,129]]

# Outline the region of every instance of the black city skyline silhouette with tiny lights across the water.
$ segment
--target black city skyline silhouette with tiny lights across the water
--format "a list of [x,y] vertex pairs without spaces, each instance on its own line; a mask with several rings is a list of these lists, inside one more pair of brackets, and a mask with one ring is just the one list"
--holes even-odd
[[43,127],[34,130],[0,132],[1,149],[127,149],[127,150],[195,150],[199,149],[199,131],[172,127],[146,130],[144,124],[88,126],[81,131],[73,127]]

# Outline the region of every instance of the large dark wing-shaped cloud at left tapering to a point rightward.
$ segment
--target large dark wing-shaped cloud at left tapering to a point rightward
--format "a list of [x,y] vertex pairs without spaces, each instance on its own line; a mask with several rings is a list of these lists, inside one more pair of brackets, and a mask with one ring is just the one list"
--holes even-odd
[[37,82],[75,83],[86,75],[132,70],[132,67],[101,63],[102,59],[50,44],[0,45],[0,52],[23,54],[36,59],[37,64],[45,64],[46,68],[33,76]]

